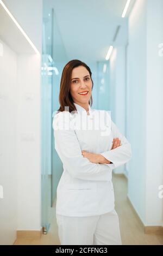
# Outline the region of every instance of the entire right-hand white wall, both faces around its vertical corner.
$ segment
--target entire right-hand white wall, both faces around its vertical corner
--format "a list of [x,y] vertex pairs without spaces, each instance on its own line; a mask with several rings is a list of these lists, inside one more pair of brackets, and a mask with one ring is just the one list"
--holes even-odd
[[129,17],[127,135],[133,149],[128,197],[145,225],[162,224],[162,0],[137,0]]

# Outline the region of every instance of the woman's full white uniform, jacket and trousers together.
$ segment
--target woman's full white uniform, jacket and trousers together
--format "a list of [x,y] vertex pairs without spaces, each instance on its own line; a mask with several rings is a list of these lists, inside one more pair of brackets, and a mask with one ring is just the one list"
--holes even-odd
[[[102,223],[102,219],[109,216],[111,212],[114,212],[114,215],[116,215],[114,210],[114,189],[111,182],[112,169],[128,162],[131,158],[131,146],[127,139],[119,132],[115,123],[111,121],[108,111],[103,110],[106,124],[101,128],[99,127],[101,119],[99,119],[98,115],[100,110],[91,109],[89,105],[90,115],[87,115],[86,110],[82,106],[76,103],[74,105],[76,105],[77,114],[63,111],[56,114],[53,118],[55,150],[64,167],[57,187],[56,205],[56,216],[58,227],[60,228],[59,234],[62,234],[60,235],[60,240],[61,244],[64,245],[74,245],[73,241],[77,239],[77,236],[80,237],[80,239],[77,239],[78,241],[83,241],[82,233],[75,232],[74,229],[71,231],[72,225],[68,228],[66,223],[64,223],[66,219],[68,220],[68,217],[71,217],[69,219],[72,220],[72,223],[74,223],[72,217],[75,217],[76,220],[79,220],[78,225],[83,225],[81,221],[83,218],[77,217],[87,219],[89,216],[95,216],[96,221],[94,224],[97,226],[97,219],[101,219]],[[82,117],[82,129],[80,129],[80,125],[78,126],[79,120],[81,120],[80,116]],[[90,127],[85,126],[89,122],[96,123],[98,129],[90,129]],[[105,128],[106,133],[103,128]],[[119,138],[122,145],[114,150],[110,150],[114,138]],[[83,157],[82,150],[102,154],[112,164],[91,163],[87,158]],[[104,216],[105,218],[102,218]],[[60,222],[61,219],[62,221]],[[62,225],[59,223],[62,223]],[[67,223],[71,223],[71,221],[68,220]],[[86,224],[85,227],[89,228],[89,225]],[[93,229],[90,227],[90,230]],[[114,229],[112,231],[114,232]],[[91,237],[93,234],[95,235],[95,232],[92,232]],[[66,234],[67,238],[65,238]],[[72,234],[72,237],[70,234]],[[85,236],[85,234],[83,235]],[[119,236],[118,234],[117,237]],[[101,242],[100,244],[103,243]],[[109,241],[106,244],[109,244]]]

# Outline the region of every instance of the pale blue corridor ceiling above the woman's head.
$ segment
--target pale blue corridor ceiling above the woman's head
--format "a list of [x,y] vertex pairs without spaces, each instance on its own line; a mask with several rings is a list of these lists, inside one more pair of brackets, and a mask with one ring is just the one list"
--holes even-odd
[[52,0],[67,58],[104,61],[110,45],[126,45],[128,16],[135,1],[122,18],[127,0]]

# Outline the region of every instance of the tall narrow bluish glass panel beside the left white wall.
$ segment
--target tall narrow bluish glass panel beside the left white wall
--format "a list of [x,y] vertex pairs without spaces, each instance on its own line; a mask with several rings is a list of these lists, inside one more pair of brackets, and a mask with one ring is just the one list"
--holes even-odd
[[43,1],[41,65],[41,224],[47,234],[52,207],[53,9]]

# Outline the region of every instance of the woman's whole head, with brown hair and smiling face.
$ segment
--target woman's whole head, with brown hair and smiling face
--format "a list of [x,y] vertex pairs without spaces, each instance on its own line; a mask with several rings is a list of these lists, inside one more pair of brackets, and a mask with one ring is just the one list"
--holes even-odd
[[73,102],[77,104],[80,102],[85,109],[88,107],[88,103],[92,105],[93,81],[91,75],[90,68],[78,59],[73,59],[66,64],[61,76],[58,111],[64,111],[67,106],[69,112],[77,111]]

